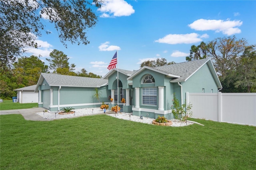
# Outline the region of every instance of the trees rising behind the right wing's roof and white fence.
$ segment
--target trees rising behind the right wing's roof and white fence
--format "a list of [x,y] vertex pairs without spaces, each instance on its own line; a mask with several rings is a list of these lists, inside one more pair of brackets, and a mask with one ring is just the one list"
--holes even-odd
[[[232,36],[192,45],[186,61],[204,58],[211,59],[222,84],[222,93],[256,92],[256,49],[246,39],[238,40]],[[162,58],[144,61],[140,67],[159,67],[174,63]]]

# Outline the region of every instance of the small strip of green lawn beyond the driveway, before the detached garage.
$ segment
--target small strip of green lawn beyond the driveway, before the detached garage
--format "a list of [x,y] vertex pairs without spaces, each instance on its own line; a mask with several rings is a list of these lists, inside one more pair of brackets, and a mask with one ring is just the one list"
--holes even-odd
[[0,111],[12,109],[29,109],[38,107],[38,103],[13,103],[12,100],[4,100],[0,103]]

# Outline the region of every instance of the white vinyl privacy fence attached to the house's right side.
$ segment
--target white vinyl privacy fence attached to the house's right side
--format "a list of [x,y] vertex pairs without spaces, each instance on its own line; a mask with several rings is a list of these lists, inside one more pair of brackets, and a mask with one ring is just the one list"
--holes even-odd
[[256,93],[188,93],[193,118],[256,126]]

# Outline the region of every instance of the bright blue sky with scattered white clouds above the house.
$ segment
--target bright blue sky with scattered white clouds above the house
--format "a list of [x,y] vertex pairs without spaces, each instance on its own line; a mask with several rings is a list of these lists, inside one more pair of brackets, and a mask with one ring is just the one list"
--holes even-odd
[[116,50],[119,69],[138,70],[148,59],[184,62],[192,45],[215,38],[236,36],[256,44],[256,1],[105,0],[94,12],[98,23],[87,30],[88,45],[67,42],[64,47],[54,26],[43,19],[52,34],[42,32],[40,47],[26,55],[40,54],[48,65],[46,57],[57,49],[76,65],[75,71],[104,76]]

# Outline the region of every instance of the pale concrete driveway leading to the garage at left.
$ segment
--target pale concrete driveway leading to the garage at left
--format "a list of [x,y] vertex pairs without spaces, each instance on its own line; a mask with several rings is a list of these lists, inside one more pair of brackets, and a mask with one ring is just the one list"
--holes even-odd
[[45,109],[42,107],[32,108],[32,109],[14,109],[14,110],[5,110],[0,111],[0,115],[9,115],[9,114],[21,114],[25,120],[28,121],[50,121],[49,119],[43,119],[40,117],[38,112],[43,112]]

